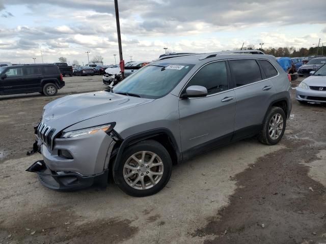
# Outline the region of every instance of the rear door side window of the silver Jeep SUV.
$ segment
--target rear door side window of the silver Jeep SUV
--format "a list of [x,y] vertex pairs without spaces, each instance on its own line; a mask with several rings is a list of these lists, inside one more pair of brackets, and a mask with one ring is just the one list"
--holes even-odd
[[259,66],[254,59],[230,60],[231,73],[236,86],[262,80]]

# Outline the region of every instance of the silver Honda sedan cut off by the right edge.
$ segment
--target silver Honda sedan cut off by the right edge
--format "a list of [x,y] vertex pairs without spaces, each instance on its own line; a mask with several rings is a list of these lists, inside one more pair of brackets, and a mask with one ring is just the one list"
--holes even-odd
[[326,103],[326,65],[310,74],[296,88],[296,100],[300,103]]

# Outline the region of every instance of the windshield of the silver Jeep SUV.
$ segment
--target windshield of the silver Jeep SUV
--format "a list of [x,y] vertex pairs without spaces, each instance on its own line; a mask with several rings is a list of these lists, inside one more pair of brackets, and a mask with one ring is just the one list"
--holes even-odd
[[113,93],[157,99],[166,96],[194,67],[189,64],[145,66],[113,88]]

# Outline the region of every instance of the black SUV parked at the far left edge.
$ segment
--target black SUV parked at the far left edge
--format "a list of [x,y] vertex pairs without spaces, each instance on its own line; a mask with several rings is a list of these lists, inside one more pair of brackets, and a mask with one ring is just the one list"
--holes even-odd
[[55,96],[65,85],[56,65],[16,65],[0,68],[0,95],[41,93]]

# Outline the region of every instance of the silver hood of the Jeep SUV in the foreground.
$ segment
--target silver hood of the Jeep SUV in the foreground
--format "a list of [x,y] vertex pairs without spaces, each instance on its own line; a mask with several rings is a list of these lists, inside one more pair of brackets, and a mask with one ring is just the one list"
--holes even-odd
[[45,105],[42,121],[59,132],[80,121],[151,101],[104,91],[70,95]]

